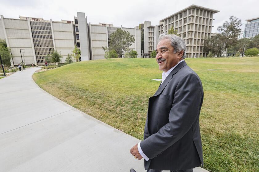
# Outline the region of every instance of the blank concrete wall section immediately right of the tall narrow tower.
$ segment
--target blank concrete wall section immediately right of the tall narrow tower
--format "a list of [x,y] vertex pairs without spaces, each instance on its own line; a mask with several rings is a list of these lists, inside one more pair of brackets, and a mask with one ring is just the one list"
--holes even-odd
[[92,60],[104,59],[102,46],[107,46],[107,27],[89,24]]

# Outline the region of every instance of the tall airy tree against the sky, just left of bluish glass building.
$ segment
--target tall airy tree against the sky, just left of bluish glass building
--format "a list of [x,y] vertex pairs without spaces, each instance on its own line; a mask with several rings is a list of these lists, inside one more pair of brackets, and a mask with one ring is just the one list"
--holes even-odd
[[230,16],[229,21],[219,26],[217,30],[220,32],[220,39],[223,42],[222,49],[226,49],[236,44],[238,36],[241,33],[241,20],[235,16]]

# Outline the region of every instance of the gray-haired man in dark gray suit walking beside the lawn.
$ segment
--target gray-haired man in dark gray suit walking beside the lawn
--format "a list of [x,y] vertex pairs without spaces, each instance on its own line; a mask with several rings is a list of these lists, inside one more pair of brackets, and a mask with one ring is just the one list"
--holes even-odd
[[158,38],[156,60],[162,83],[149,98],[144,140],[130,149],[145,159],[148,172],[192,172],[203,166],[199,113],[203,88],[199,76],[183,60],[186,45],[176,35]]

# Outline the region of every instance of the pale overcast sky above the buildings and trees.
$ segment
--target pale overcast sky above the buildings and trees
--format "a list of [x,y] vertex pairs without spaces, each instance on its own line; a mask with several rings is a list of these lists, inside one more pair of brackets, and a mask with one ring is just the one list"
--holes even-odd
[[217,32],[217,27],[231,15],[240,18],[242,23],[259,17],[259,0],[0,0],[0,14],[5,18],[26,16],[61,21],[74,20],[76,12],[84,12],[88,23],[133,28],[144,21],[158,25],[159,20],[192,4],[220,11],[214,14],[212,32]]

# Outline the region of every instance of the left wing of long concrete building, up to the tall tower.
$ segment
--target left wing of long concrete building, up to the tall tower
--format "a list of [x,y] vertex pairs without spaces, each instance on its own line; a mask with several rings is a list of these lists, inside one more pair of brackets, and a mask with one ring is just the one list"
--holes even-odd
[[21,63],[22,59],[27,65],[44,65],[45,57],[54,50],[62,55],[61,63],[64,63],[74,49],[71,21],[54,22],[21,16],[13,19],[1,15],[0,28],[0,38],[5,39],[10,47],[14,65]]

